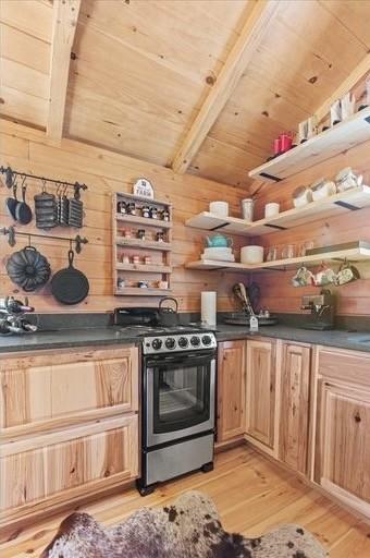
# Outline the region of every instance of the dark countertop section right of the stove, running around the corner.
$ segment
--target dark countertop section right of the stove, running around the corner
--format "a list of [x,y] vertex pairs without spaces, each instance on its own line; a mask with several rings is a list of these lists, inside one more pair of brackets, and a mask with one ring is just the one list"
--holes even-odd
[[[297,341],[301,343],[323,344],[328,347],[337,347],[340,349],[349,349],[351,351],[370,352],[370,331],[344,331],[333,329],[331,331],[316,331],[301,329],[292,326],[260,326],[257,333],[250,333],[249,328],[245,326],[231,326],[218,324],[218,341],[229,341],[233,339],[245,339],[246,337],[271,337],[285,339],[287,341]],[[368,339],[368,343],[359,342],[360,339]]]

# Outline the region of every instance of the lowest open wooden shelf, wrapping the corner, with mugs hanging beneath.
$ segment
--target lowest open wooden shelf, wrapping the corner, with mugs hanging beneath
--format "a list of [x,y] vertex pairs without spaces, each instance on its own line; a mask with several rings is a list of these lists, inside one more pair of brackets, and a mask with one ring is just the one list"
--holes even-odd
[[349,248],[335,252],[325,252],[322,254],[314,254],[311,256],[292,257],[289,259],[276,259],[274,262],[263,262],[262,264],[238,264],[230,262],[221,262],[213,259],[202,259],[192,262],[186,265],[187,269],[213,269],[223,271],[258,271],[263,269],[289,269],[297,268],[300,265],[306,267],[317,266],[322,262],[326,263],[341,263],[347,259],[348,262],[370,262],[370,248]]

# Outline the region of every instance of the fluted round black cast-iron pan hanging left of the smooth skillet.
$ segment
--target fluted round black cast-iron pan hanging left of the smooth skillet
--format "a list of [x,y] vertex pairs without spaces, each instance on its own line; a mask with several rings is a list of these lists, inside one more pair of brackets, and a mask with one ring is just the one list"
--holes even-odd
[[49,262],[34,246],[14,252],[5,267],[10,279],[27,292],[44,287],[51,274]]

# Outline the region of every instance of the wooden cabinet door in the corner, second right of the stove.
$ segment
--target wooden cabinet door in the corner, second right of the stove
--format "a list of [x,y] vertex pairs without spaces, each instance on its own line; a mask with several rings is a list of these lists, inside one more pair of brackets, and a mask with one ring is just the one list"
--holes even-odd
[[275,342],[247,341],[246,434],[274,447]]

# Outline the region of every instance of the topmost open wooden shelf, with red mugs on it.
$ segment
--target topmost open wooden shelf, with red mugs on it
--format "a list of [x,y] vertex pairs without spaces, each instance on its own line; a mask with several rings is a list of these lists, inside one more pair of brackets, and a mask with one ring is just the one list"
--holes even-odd
[[252,169],[251,179],[279,182],[370,140],[370,108]]

